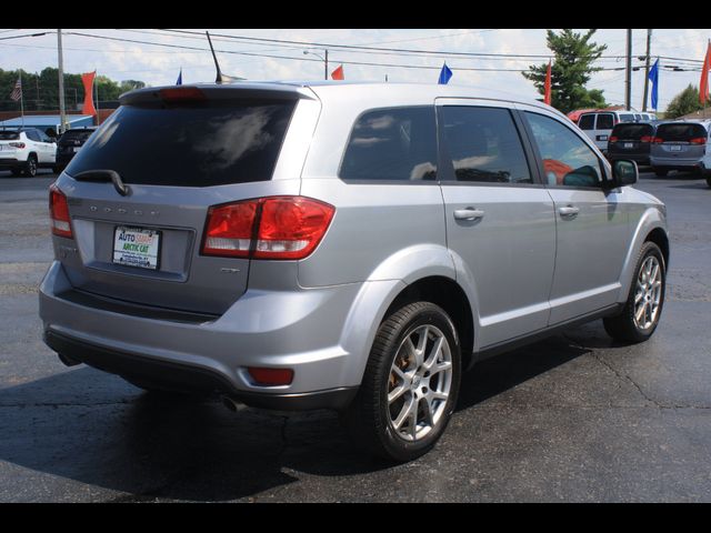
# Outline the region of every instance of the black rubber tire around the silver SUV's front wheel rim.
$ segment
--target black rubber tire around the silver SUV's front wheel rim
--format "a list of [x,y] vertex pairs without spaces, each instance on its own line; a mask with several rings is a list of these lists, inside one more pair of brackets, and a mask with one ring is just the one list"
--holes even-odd
[[[638,280],[640,279],[641,270],[645,265],[649,258],[655,258],[657,263],[659,264],[661,275],[661,293],[655,318],[650,321],[649,326],[641,328],[640,325],[638,325],[634,319],[635,298],[639,292],[644,292],[638,291]],[[622,309],[622,312],[617,316],[609,316],[602,320],[604,330],[615,341],[625,343],[638,343],[647,341],[650,336],[652,336],[654,330],[657,330],[657,326],[659,325],[659,320],[661,319],[662,309],[664,306],[665,289],[667,265],[664,263],[664,255],[657,244],[648,241],[642,247],[642,250],[640,250],[640,254],[634,266],[634,278],[632,279],[632,286],[630,288],[630,293],[628,295],[624,308]],[[642,296],[642,299],[643,298],[644,296]]]

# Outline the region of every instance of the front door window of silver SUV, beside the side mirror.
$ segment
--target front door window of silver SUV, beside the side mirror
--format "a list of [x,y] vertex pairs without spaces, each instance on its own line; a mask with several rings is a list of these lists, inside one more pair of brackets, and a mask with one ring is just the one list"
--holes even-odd
[[525,113],[543,160],[543,175],[551,185],[598,187],[600,161],[582,139],[557,120]]

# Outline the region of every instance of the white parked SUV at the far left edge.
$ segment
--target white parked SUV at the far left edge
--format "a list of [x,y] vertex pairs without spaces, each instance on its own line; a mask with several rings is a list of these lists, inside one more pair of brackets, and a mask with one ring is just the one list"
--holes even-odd
[[0,130],[0,170],[12,175],[32,178],[39,168],[51,168],[57,158],[57,144],[34,128]]

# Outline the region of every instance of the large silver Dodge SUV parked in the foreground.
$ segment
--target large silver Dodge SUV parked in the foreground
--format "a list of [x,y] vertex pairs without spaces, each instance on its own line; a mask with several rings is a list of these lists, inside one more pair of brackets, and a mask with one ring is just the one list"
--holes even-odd
[[535,101],[414,84],[144,89],[50,191],[47,344],[148,390],[336,409],[397,461],[461,373],[659,322],[664,205]]

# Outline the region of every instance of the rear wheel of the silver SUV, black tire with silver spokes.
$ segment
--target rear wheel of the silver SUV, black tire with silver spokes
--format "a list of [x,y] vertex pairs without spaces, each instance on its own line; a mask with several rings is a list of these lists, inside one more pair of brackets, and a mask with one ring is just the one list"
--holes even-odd
[[[421,355],[420,360],[424,361],[424,364],[420,366],[415,364],[411,371],[408,371],[398,363],[398,366],[404,371],[402,375],[412,373],[412,380],[408,385],[409,389],[404,381],[399,386],[408,391],[401,394],[402,406],[398,405],[400,399],[389,404],[389,389],[393,386],[393,380],[397,380],[393,373],[395,358],[404,364],[403,354],[408,352],[405,342],[423,338],[425,341],[421,352],[424,355]],[[437,352],[439,354],[437,359],[433,359],[432,354],[435,352],[432,348],[437,342],[440,342],[440,339],[442,339],[442,349]],[[420,351],[419,346],[419,342],[418,346],[413,344],[418,351]],[[428,350],[430,351],[428,352]],[[449,365],[451,372],[448,371],[448,358],[451,362]],[[410,359],[413,360],[414,356]],[[434,363],[439,362],[441,368],[447,370],[430,373],[427,371],[428,359]],[[460,376],[461,349],[459,335],[451,319],[441,308],[430,302],[407,304],[387,316],[380,324],[358,395],[349,410],[343,413],[342,421],[353,440],[373,454],[390,461],[412,461],[429,452],[444,432],[457,405]],[[415,389],[417,392],[413,392]],[[432,400],[432,396],[427,396],[427,394],[434,395],[444,390],[448,391],[445,400]],[[391,390],[392,392],[394,391]],[[424,406],[422,402],[425,403]],[[431,410],[427,410],[425,406],[430,405],[430,402]],[[407,416],[403,419],[409,425],[407,431],[414,433],[414,438],[404,435],[402,428],[395,429],[393,425],[393,414],[398,412],[401,416],[405,413],[408,405],[415,406],[414,410],[408,410],[408,412],[414,412],[414,424],[411,419]],[[422,429],[418,431],[421,410],[423,413]],[[429,419],[432,421],[429,425],[424,412],[434,413]],[[398,418],[395,416],[395,419]],[[411,432],[412,428],[414,430]],[[421,435],[418,436],[418,433]]]

